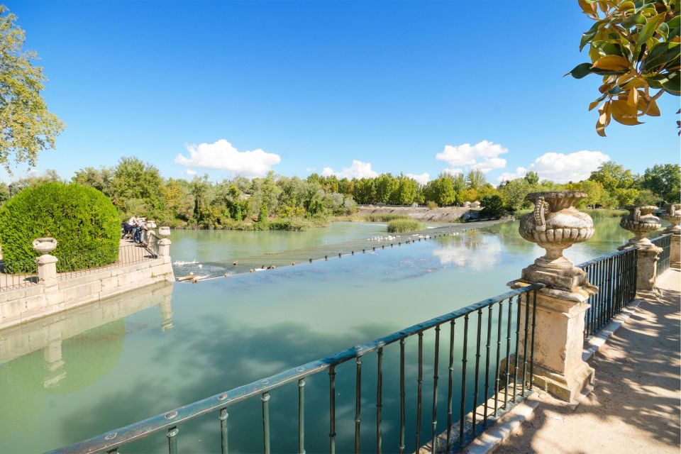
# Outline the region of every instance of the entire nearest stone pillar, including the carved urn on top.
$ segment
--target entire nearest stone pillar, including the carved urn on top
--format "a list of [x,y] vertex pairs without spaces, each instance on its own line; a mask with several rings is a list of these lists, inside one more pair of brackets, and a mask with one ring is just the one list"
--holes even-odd
[[[584,192],[536,192],[526,200],[535,204],[533,213],[520,221],[520,235],[537,243],[546,255],[522,271],[520,279],[509,282],[512,288],[544,284],[536,293],[534,324],[533,384],[566,402],[575,402],[589,387],[594,370],[582,360],[587,300],[598,289],[589,284],[587,274],[563,256],[563,250],[582,243],[594,234],[592,218],[575,209],[575,202],[587,196]],[[528,310],[530,299],[521,298],[521,311]],[[530,308],[532,310],[532,308]],[[526,335],[520,317],[522,339],[518,354],[525,355]],[[531,343],[528,348],[531,348]],[[525,377],[522,377],[524,380]]]

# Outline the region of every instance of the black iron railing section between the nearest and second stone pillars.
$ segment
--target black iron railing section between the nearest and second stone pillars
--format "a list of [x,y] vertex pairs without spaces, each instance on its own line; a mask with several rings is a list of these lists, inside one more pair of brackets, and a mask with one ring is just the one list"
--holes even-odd
[[598,287],[598,293],[589,297],[585,338],[597,333],[636,297],[636,258],[636,249],[631,248],[577,265]]

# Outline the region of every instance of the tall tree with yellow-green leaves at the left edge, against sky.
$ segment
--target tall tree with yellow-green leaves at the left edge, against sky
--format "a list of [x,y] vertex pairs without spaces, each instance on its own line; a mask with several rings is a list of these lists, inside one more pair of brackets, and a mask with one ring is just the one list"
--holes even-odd
[[9,163],[35,166],[38,153],[55,148],[64,124],[48,111],[40,92],[47,77],[33,66],[35,52],[22,50],[26,34],[16,16],[0,5],[0,164],[11,173]]

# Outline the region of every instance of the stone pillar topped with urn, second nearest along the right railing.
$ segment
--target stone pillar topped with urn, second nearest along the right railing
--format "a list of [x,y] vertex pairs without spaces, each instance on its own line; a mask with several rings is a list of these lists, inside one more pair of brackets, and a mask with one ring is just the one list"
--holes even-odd
[[619,222],[621,228],[634,234],[629,243],[618,249],[636,248],[636,297],[655,298],[655,279],[658,274],[658,258],[662,248],[650,242],[646,234],[654,232],[662,226],[660,218],[653,216],[657,206],[627,206],[629,214]]

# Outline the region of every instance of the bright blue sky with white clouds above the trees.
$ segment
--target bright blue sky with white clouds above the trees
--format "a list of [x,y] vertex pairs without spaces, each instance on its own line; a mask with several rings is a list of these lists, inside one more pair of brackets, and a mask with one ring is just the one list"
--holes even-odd
[[38,172],[128,155],[165,177],[478,167],[497,182],[518,167],[560,180],[606,159],[636,172],[680,159],[675,96],[660,118],[595,133],[599,78],[563,77],[587,61],[576,0],[6,5],[67,123]]

